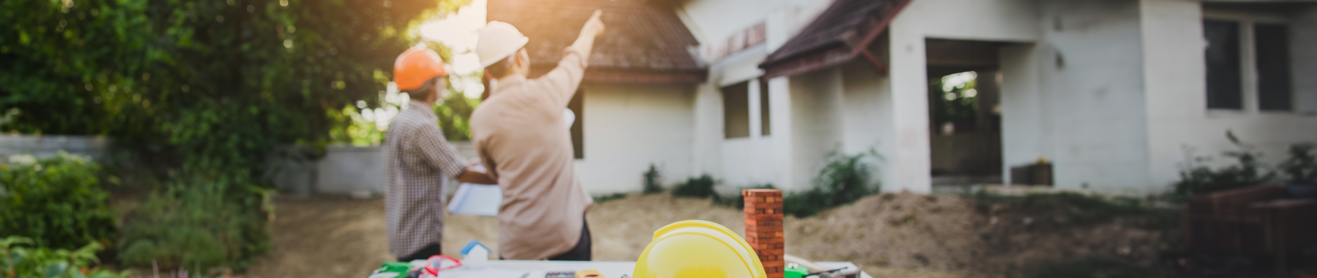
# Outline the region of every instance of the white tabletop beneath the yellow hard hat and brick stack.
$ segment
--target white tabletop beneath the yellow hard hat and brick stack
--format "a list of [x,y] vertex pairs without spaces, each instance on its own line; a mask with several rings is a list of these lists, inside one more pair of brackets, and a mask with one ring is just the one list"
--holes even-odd
[[[859,268],[851,262],[817,262],[823,266],[830,268]],[[515,260],[493,260],[489,261],[487,269],[500,269],[500,270],[522,270],[529,273],[527,278],[543,278],[548,271],[577,271],[577,270],[599,270],[605,278],[622,278],[622,275],[631,277],[631,270],[636,268],[633,261],[515,261]],[[454,269],[456,270],[456,269]],[[469,270],[479,271],[479,270]],[[440,273],[440,277],[444,277]],[[873,278],[868,273],[860,271],[861,278]]]

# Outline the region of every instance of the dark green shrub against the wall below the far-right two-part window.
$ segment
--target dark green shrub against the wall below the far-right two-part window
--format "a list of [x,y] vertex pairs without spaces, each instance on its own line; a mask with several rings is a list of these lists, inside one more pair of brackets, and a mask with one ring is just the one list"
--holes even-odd
[[1222,155],[1234,159],[1237,164],[1212,169],[1206,165],[1212,157],[1193,156],[1193,151],[1187,148],[1185,153],[1189,157],[1180,168],[1180,181],[1175,184],[1176,194],[1185,197],[1197,195],[1266,184],[1275,180],[1276,174],[1267,170],[1267,165],[1259,161],[1259,157],[1262,157],[1260,152],[1254,151],[1251,146],[1241,143],[1234,132],[1226,131],[1226,138],[1239,149],[1227,151]]

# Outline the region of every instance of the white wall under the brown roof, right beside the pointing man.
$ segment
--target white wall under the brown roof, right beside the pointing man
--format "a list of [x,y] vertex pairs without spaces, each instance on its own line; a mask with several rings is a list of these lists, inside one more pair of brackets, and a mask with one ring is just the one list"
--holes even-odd
[[585,159],[576,170],[587,191],[639,191],[649,164],[668,184],[693,174],[693,85],[585,84],[582,90]]

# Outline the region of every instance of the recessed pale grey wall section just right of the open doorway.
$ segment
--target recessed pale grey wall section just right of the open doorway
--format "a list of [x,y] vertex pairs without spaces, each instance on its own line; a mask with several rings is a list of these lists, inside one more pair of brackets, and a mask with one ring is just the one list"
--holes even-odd
[[1138,3],[1047,1],[1040,25],[1044,49],[1034,55],[1042,56],[1040,87],[1050,94],[1044,117],[1054,130],[1052,149],[1043,157],[1058,165],[1055,185],[1147,186]]

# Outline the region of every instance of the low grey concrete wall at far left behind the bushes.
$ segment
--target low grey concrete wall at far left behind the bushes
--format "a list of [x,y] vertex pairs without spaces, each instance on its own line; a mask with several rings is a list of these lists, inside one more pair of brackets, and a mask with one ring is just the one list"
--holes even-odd
[[3,160],[0,163],[8,163],[13,155],[43,159],[55,156],[61,151],[105,161],[112,147],[113,142],[105,136],[0,135],[0,160]]

